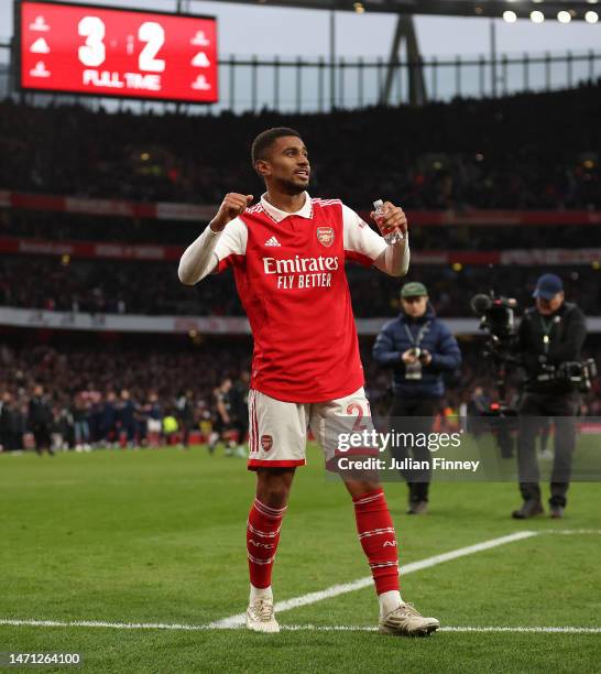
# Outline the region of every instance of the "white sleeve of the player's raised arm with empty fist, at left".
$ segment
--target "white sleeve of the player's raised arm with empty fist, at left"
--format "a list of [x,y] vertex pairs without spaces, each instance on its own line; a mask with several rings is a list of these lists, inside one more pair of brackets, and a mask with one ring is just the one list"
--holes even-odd
[[177,275],[186,285],[194,285],[212,271],[227,265],[231,256],[247,253],[248,229],[240,218],[228,222],[222,231],[207,227],[184,251]]

